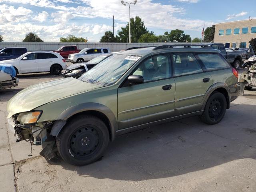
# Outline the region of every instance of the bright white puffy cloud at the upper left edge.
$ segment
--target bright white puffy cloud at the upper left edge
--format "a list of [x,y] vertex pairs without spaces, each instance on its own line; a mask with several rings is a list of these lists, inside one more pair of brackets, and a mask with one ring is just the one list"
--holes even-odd
[[4,22],[4,20],[12,22],[25,21],[31,14],[32,10],[24,7],[18,7],[16,9],[14,6],[0,5],[0,22]]

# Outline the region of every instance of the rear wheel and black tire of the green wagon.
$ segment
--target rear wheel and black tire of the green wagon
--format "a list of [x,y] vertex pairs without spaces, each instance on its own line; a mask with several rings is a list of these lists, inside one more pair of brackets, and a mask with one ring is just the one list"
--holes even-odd
[[226,113],[227,101],[220,92],[213,92],[208,98],[201,120],[206,124],[217,124],[222,120]]

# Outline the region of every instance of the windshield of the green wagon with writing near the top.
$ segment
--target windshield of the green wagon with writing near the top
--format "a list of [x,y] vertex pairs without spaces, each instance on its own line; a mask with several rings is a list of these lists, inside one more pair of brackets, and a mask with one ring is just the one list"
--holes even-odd
[[132,55],[112,55],[84,73],[81,81],[108,86],[116,83],[122,75],[140,58]]

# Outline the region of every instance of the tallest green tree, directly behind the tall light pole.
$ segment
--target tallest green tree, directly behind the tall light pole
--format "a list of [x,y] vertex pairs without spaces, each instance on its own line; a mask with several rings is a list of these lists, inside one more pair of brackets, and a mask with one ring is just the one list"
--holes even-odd
[[[121,30],[118,30],[118,36],[120,42],[129,41],[129,22],[125,27],[121,27]],[[147,28],[144,25],[144,22],[140,17],[136,16],[135,19],[131,18],[131,42],[138,42],[140,36],[148,33]]]

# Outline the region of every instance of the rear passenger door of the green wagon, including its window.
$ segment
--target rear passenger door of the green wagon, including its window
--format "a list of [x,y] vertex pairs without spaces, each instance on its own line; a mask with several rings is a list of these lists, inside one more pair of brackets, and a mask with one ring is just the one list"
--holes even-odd
[[212,77],[204,72],[193,53],[174,53],[175,115],[199,111]]

